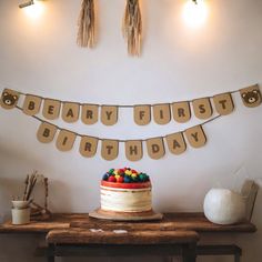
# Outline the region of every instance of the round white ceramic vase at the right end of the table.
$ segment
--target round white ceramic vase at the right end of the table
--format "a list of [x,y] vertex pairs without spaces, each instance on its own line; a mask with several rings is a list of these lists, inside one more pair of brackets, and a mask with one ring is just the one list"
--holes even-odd
[[245,216],[246,199],[228,189],[211,189],[204,198],[204,215],[216,224],[234,224]]

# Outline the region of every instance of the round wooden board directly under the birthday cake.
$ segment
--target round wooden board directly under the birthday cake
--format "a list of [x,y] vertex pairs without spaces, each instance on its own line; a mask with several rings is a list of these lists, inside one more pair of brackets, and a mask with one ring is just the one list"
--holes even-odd
[[112,221],[152,221],[161,220],[162,213],[155,213],[153,210],[145,212],[114,212],[97,209],[89,213],[94,219],[112,220]]

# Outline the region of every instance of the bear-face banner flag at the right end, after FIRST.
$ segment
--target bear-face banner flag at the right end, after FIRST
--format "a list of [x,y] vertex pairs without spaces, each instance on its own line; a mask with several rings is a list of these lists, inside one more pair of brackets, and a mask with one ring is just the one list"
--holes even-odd
[[255,108],[261,104],[262,95],[258,84],[240,90],[243,104],[248,108]]

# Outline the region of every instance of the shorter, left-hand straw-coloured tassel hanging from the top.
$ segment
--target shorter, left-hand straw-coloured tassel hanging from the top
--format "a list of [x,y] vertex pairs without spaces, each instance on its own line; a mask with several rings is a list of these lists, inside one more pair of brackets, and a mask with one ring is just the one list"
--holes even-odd
[[78,44],[82,48],[93,48],[95,43],[94,0],[82,0],[78,26]]

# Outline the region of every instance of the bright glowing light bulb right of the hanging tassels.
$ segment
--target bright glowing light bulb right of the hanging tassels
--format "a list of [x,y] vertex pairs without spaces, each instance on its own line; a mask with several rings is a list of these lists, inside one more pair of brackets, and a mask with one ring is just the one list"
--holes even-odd
[[204,0],[189,0],[183,7],[183,19],[190,28],[201,27],[206,21],[208,14]]

